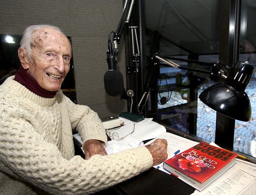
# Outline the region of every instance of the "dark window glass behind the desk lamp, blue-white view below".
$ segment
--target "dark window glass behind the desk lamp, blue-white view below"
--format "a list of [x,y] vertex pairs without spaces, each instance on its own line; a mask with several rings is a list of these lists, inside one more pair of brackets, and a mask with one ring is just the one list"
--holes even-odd
[[[239,1],[234,1],[239,2]],[[142,48],[144,66],[155,53],[177,58],[175,63],[184,67],[211,71],[212,67],[182,60],[216,63],[220,56],[229,55],[220,49],[223,35],[220,21],[222,0],[216,1],[141,1]],[[256,4],[241,1],[239,61],[256,64]],[[233,7],[231,7],[233,9]],[[195,12],[196,10],[196,12]],[[231,10],[232,11],[232,10]],[[145,70],[146,70],[145,69]],[[155,68],[146,115],[183,133],[191,133],[211,142],[215,140],[216,111],[198,99],[200,93],[215,84],[204,73],[174,69],[161,64]],[[144,74],[147,74],[147,72]],[[245,92],[251,101],[252,115],[249,122],[235,120],[233,150],[256,157],[256,77],[255,73]]]

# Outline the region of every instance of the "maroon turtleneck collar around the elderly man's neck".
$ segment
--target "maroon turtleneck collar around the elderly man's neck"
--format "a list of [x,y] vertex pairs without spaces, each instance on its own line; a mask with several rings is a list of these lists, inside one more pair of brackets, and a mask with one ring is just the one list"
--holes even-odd
[[36,80],[29,74],[22,65],[15,74],[14,80],[24,85],[27,89],[43,98],[54,98],[56,91],[48,91],[43,89]]

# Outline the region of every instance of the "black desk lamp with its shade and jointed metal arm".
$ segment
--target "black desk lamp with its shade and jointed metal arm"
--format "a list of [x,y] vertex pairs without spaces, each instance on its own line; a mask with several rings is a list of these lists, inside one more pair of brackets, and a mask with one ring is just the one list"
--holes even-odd
[[[213,110],[232,119],[240,121],[250,120],[251,103],[244,90],[252,78],[254,66],[248,64],[248,61],[243,63],[237,62],[233,66],[225,66],[225,68],[221,67],[223,66],[221,62],[217,62],[216,64],[213,64],[212,72],[210,72],[182,67],[181,65],[171,61],[170,58],[172,60],[193,62],[198,64],[202,62],[159,55],[155,55],[154,57],[174,68],[186,69],[194,72],[203,72],[210,74],[211,77],[223,77],[225,81],[223,83],[214,84],[204,90],[199,95],[200,100]],[[203,64],[209,65],[209,63]]]

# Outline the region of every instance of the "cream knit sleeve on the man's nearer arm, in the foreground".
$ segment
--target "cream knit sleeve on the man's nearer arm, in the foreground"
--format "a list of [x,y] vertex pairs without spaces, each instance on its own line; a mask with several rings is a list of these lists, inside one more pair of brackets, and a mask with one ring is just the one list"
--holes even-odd
[[[152,166],[145,147],[89,160],[70,160],[24,119],[2,110],[0,169],[52,194],[87,194],[136,176]],[[3,122],[5,121],[5,122]]]

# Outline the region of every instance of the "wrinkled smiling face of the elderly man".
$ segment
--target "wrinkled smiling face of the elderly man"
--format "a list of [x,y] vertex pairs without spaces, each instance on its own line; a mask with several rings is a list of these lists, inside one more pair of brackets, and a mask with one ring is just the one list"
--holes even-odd
[[70,69],[71,44],[68,38],[52,28],[42,28],[35,33],[31,48],[27,72],[43,89],[61,89]]

